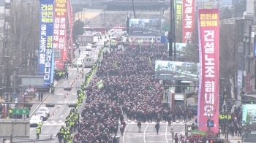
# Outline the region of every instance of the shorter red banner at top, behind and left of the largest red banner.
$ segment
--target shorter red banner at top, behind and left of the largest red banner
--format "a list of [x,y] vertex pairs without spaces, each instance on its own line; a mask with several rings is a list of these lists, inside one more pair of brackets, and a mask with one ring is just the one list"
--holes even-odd
[[190,43],[195,26],[195,0],[183,0],[182,42]]

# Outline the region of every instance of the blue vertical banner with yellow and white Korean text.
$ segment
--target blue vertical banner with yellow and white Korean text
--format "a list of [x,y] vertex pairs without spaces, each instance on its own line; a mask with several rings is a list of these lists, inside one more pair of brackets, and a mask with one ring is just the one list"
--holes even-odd
[[38,74],[44,75],[44,86],[53,81],[53,0],[39,1],[40,39]]

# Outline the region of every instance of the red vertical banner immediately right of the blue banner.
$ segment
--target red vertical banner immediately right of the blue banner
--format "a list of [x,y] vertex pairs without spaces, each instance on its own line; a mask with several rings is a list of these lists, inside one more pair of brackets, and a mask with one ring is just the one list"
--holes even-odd
[[[63,61],[67,59],[67,0],[55,0],[53,48],[54,63],[57,69],[63,69]],[[66,54],[65,54],[66,53]]]

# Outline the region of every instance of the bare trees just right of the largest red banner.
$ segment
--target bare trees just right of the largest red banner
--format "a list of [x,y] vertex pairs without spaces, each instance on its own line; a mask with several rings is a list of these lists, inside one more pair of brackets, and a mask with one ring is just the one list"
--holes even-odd
[[233,81],[233,84],[229,84],[233,87],[233,93],[236,93],[238,43],[243,42],[243,27],[242,20],[237,20],[235,24],[220,26],[219,77]]

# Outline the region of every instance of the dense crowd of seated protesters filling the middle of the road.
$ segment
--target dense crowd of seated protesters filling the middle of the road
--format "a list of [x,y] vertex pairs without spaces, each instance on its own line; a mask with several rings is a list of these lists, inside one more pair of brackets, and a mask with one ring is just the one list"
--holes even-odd
[[[103,57],[97,77],[89,84],[93,90],[86,93],[74,142],[112,142],[110,135],[125,127],[123,120],[118,122],[124,119],[121,105],[129,117],[148,115],[156,119],[170,112],[162,104],[163,89],[148,88],[154,84],[154,60],[167,60],[166,48],[126,47],[106,51]],[[104,88],[97,87],[99,80],[103,80]]]

